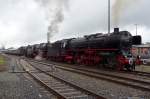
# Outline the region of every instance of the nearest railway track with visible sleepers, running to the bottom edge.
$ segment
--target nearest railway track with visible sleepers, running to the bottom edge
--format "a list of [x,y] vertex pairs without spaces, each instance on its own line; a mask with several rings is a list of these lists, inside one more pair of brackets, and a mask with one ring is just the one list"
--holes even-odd
[[[56,95],[58,99],[105,99],[87,89],[81,88],[45,70],[37,68],[33,64],[27,64],[26,66],[29,67],[23,66],[24,70],[42,86]],[[31,67],[32,69],[30,70]],[[36,72],[34,72],[33,68]]]

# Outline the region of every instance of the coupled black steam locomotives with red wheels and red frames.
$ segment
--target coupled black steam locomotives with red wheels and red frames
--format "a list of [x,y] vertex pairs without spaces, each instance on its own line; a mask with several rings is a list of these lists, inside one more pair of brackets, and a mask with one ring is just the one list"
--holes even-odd
[[115,28],[110,34],[97,33],[81,38],[63,39],[51,44],[27,46],[22,55],[35,57],[42,52],[42,57],[54,61],[132,70],[139,64],[139,58],[132,57],[131,47],[139,44],[141,36],[132,36],[128,31]]

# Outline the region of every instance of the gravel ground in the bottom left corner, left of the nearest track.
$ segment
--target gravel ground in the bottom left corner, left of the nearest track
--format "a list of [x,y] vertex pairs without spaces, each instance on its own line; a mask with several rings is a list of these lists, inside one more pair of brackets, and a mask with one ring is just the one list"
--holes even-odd
[[[0,99],[55,99],[26,73],[12,73],[15,59],[7,60],[6,71],[0,72]],[[22,71],[15,65],[15,71]]]

